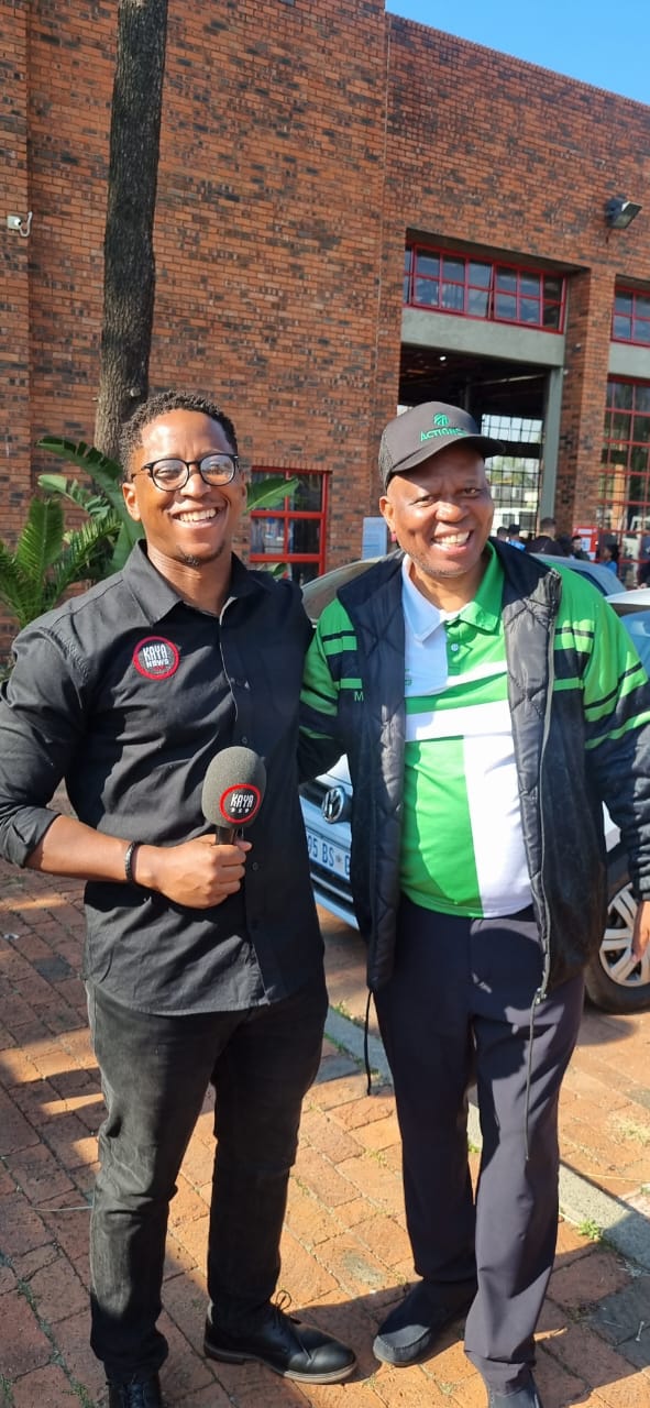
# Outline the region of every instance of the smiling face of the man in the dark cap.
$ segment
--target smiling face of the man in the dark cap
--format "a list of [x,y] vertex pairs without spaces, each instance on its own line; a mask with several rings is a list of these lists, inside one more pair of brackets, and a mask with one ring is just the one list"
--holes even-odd
[[452,445],[408,474],[394,474],[381,513],[412,562],[412,579],[442,610],[471,601],[485,570],[494,504],[483,455]]

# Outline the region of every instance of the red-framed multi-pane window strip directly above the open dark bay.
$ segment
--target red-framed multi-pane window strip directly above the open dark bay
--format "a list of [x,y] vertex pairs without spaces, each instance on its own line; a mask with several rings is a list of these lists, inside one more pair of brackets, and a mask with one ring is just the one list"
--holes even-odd
[[561,334],[566,300],[560,273],[431,245],[404,251],[404,304],[411,308]]

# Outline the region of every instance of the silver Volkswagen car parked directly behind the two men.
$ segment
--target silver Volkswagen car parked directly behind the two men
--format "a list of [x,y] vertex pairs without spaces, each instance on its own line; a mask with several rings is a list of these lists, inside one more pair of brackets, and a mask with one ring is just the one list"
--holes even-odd
[[[373,559],[374,560],[374,559]],[[650,589],[626,591],[606,567],[575,558],[544,556],[544,563],[570,566],[590,577],[620,617],[650,674]],[[324,573],[304,587],[304,603],[315,622],[339,587],[371,560],[352,562]],[[301,788],[302,817],[310,850],[311,880],[317,903],[356,928],[350,893],[352,783],[348,762],[339,762]],[[650,949],[639,963],[632,955],[636,901],[627,874],[627,857],[620,834],[605,810],[608,848],[609,910],[598,953],[587,967],[587,993],[604,1012],[642,1012],[650,1008]]]

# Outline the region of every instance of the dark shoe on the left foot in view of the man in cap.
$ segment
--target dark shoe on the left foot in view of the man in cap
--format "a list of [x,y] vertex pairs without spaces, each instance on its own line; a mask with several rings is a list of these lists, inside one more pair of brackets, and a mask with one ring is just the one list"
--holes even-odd
[[443,1329],[467,1314],[474,1295],[471,1281],[456,1287],[419,1281],[380,1325],[373,1345],[374,1357],[395,1369],[419,1364],[433,1352]]

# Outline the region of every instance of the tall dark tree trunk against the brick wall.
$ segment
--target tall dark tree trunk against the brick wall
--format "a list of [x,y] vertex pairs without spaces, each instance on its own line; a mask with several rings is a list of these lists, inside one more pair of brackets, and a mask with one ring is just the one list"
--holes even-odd
[[146,398],[153,324],[167,0],[120,0],[113,86],[104,313],[94,444],[117,459],[120,428]]

